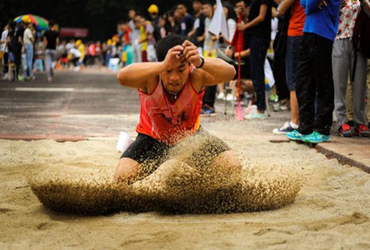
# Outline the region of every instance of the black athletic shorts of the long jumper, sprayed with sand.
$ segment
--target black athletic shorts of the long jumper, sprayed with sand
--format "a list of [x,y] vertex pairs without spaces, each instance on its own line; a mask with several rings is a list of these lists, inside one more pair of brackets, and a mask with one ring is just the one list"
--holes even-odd
[[202,128],[175,145],[168,145],[138,133],[136,140],[124,151],[121,158],[131,158],[143,165],[144,171],[152,173],[160,164],[173,158],[202,168],[210,165],[214,158],[229,149],[224,141]]

